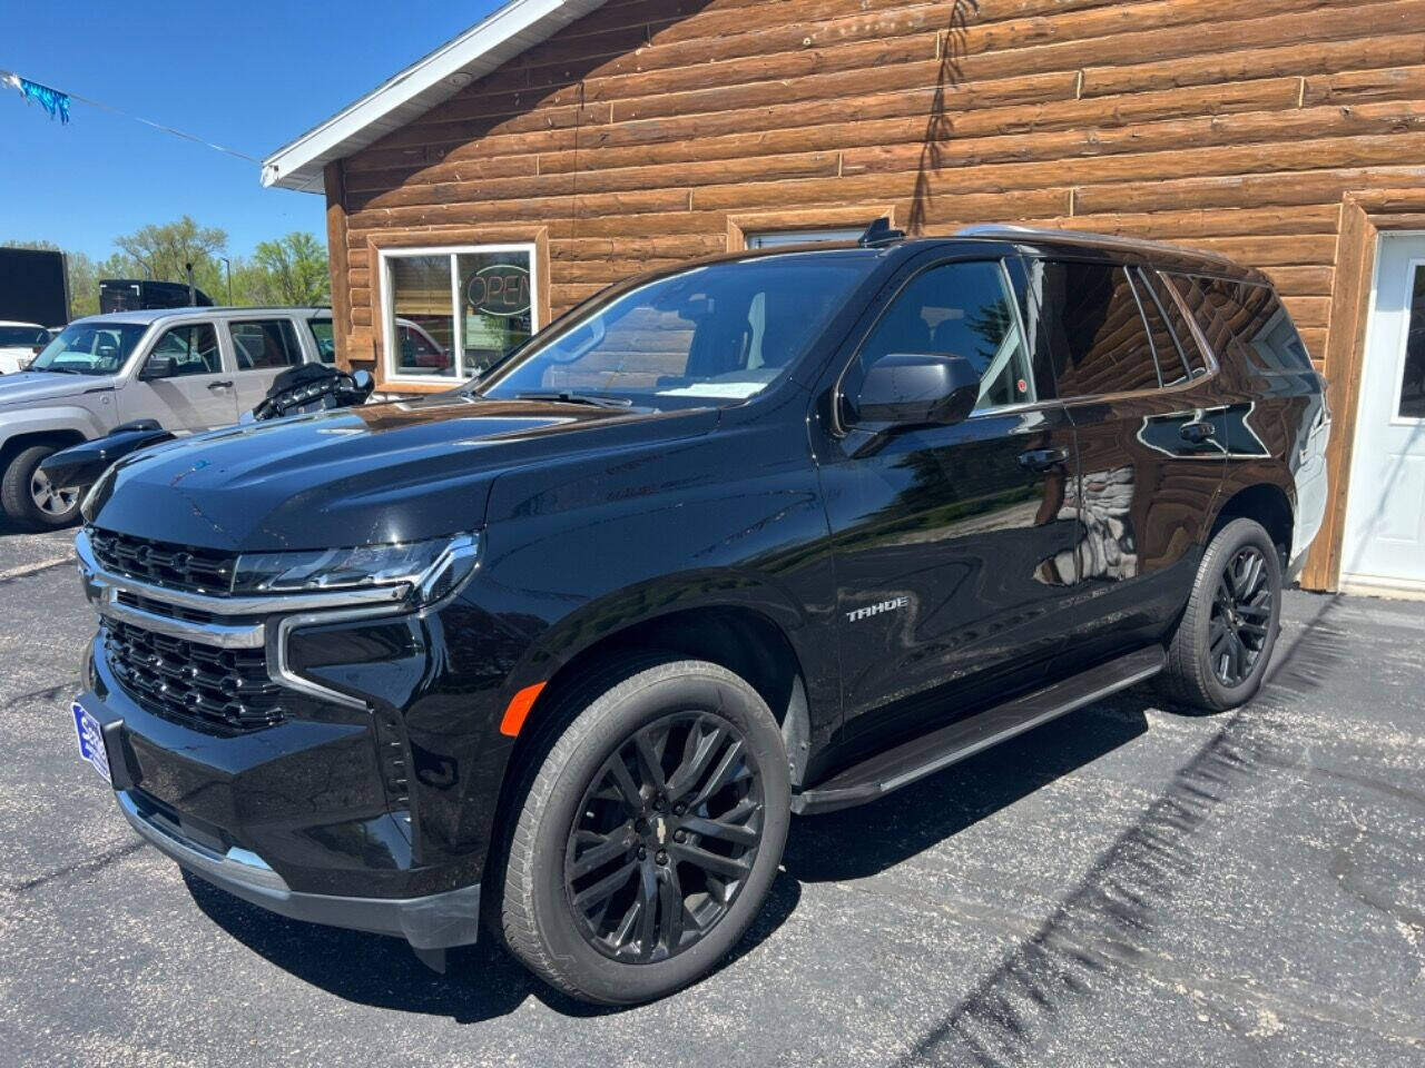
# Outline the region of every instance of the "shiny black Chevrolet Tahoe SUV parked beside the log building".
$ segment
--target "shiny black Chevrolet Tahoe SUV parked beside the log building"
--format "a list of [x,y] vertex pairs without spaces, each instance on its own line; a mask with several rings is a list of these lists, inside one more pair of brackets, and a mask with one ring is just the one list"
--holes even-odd
[[81,750],[238,897],[435,967],[483,920],[654,998],[737,943],[792,813],[1151,676],[1248,701],[1328,427],[1211,255],[881,228],[647,275],[450,393],[110,468]]

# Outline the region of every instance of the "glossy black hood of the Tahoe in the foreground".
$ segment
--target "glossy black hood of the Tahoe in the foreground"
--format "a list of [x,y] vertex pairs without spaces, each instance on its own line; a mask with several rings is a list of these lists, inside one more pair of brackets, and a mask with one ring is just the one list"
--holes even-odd
[[262,551],[416,541],[484,523],[503,471],[570,450],[711,430],[712,409],[651,412],[443,394],[248,424],[135,453],[87,501],[94,525]]

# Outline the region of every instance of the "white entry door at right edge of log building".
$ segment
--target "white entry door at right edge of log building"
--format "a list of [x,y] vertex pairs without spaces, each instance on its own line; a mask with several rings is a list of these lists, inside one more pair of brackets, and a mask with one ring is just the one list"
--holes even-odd
[[1425,591],[1425,234],[1379,239],[1341,578]]

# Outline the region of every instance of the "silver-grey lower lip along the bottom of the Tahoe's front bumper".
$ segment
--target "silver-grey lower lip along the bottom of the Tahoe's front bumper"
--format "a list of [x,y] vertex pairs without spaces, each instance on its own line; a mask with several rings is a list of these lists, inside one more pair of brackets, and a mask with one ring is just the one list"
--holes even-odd
[[117,790],[124,819],[151,846],[192,874],[234,897],[294,920],[393,934],[418,950],[443,950],[476,941],[480,930],[480,884],[422,897],[343,897],[299,893],[245,849],[218,853],[182,833],[162,810],[137,790]]

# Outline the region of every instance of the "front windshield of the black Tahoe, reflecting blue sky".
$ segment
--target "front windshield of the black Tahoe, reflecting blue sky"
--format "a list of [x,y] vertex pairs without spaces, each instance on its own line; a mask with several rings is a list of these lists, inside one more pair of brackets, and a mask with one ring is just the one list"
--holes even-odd
[[620,397],[653,407],[745,400],[779,379],[874,259],[828,249],[724,261],[630,289],[560,323],[477,383],[480,396]]

